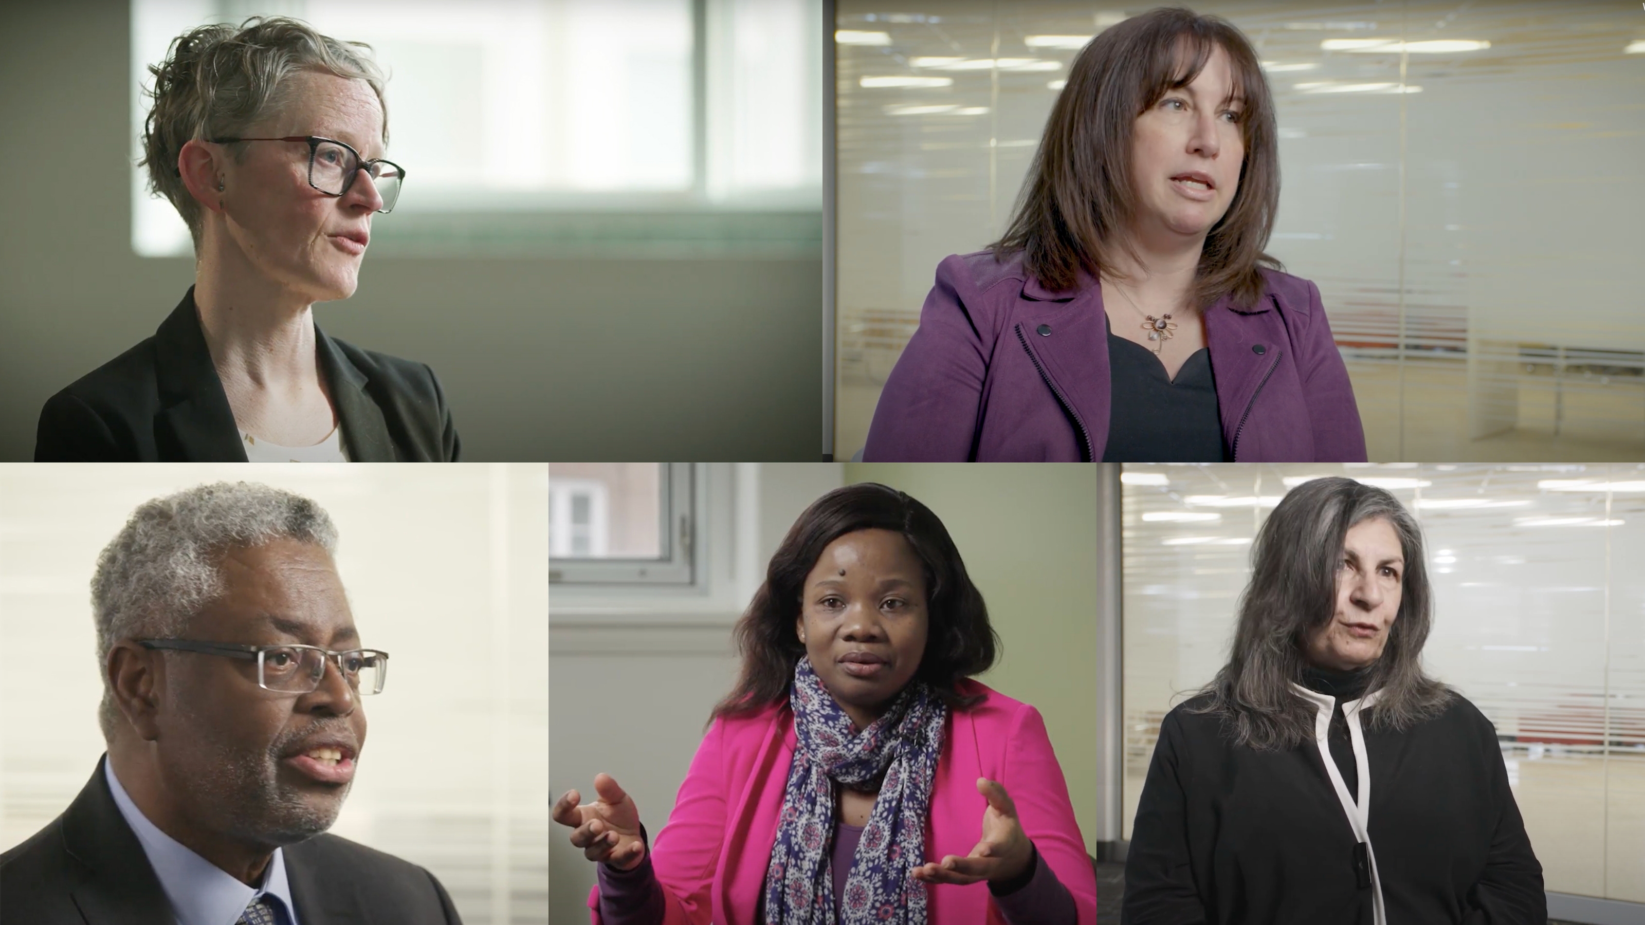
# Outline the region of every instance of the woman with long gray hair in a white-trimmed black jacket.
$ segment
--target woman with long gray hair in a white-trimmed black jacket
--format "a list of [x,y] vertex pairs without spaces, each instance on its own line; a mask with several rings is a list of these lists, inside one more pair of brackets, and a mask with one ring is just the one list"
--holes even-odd
[[1497,732],[1421,667],[1433,591],[1383,489],[1314,479],[1257,533],[1227,665],[1165,716],[1124,920],[1548,920]]

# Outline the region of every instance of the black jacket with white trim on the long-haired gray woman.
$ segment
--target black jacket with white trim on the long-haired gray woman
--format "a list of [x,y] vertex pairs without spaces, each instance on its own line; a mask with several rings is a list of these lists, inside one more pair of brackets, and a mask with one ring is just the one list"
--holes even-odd
[[1369,783],[1365,856],[1318,742],[1234,746],[1219,718],[1193,713],[1206,703],[1160,724],[1125,862],[1125,925],[1372,925],[1379,884],[1393,925],[1548,922],[1495,727],[1472,703],[1456,696],[1405,732],[1364,724],[1369,777],[1339,777]]

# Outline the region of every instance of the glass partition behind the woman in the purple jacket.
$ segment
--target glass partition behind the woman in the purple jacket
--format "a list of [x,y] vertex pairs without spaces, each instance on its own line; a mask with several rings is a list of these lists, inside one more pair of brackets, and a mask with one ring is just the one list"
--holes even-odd
[[[1314,280],[1370,459],[1638,459],[1632,181],[1645,18],[1625,3],[1206,0],[1263,59],[1268,252]],[[852,458],[938,262],[987,247],[1068,66],[1143,7],[839,0],[834,453]]]

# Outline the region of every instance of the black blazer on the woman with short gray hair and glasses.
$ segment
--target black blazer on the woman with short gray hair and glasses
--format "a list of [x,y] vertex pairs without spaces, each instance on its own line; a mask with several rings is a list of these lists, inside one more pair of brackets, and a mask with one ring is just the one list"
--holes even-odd
[[[319,367],[355,462],[456,462],[461,449],[434,370],[327,337]],[[153,337],[58,392],[39,411],[36,462],[245,462],[211,364],[194,286]]]

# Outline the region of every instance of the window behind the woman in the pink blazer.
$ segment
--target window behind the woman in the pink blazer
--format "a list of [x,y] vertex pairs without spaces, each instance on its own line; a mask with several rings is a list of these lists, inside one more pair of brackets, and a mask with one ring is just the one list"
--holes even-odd
[[688,462],[554,462],[548,476],[549,581],[691,584]]

